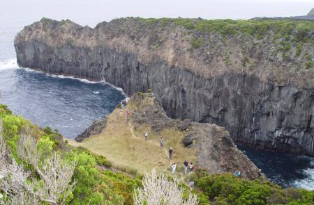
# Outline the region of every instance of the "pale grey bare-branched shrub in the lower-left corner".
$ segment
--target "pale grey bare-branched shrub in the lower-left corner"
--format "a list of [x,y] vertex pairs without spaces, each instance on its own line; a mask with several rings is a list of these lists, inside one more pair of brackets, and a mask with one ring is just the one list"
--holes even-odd
[[[0,122],[1,123],[1,122]],[[75,182],[71,183],[76,162],[66,162],[59,152],[54,151],[47,158],[41,157],[35,138],[20,134],[17,154],[23,163],[31,165],[37,176],[25,169],[10,157],[3,139],[0,124],[0,190],[5,194],[5,204],[65,204],[72,192]],[[47,153],[45,153],[47,156]]]

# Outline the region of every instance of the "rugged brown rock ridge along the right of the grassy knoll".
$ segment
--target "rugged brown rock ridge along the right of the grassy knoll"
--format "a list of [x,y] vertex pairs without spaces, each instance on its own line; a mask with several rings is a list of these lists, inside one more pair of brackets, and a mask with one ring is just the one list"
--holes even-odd
[[197,167],[211,174],[241,170],[242,176],[248,179],[264,178],[261,170],[237,149],[228,131],[223,127],[189,120],[173,120],[167,117],[165,110],[154,96],[144,93],[133,95],[130,98],[130,104],[132,104],[130,123],[135,126],[135,129],[141,124],[147,124],[158,133],[163,129],[180,130],[180,127],[184,125],[186,129],[181,130],[184,132],[182,143],[186,149],[196,148]]

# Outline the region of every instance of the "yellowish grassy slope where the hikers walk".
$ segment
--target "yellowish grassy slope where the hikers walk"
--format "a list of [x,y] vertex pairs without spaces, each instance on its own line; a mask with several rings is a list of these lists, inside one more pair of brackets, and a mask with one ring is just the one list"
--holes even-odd
[[[134,129],[133,124],[126,121],[125,112],[132,110],[132,104],[128,104],[123,110],[116,109],[107,117],[105,129],[96,136],[91,136],[78,143],[70,140],[73,146],[82,146],[95,154],[106,156],[112,161],[114,167],[132,172],[149,172],[152,168],[160,172],[169,172],[170,165],[177,163],[179,175],[183,173],[181,165],[184,159],[195,161],[195,149],[186,149],[181,143],[184,132],[177,128],[163,129],[159,133],[151,131],[147,124],[141,124]],[[149,133],[149,140],[144,140],[144,133]],[[159,139],[165,139],[165,148],[159,146]],[[174,157],[170,161],[167,157],[167,149],[173,147]],[[177,173],[178,174],[178,173]]]

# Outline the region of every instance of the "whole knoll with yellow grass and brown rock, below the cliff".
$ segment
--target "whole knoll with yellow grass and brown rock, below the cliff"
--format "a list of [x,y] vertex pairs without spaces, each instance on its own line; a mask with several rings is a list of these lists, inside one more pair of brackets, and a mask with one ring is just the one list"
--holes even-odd
[[[147,140],[144,133],[148,133]],[[160,138],[164,139],[164,147],[160,147]],[[177,163],[178,174],[184,177],[182,163],[187,160],[210,174],[240,170],[248,179],[264,177],[237,149],[223,127],[173,120],[150,93],[137,92],[124,108],[116,108],[107,116],[100,133],[75,140],[80,140],[75,146],[106,156],[116,167],[124,169],[149,172],[154,168],[169,172],[171,164]],[[170,147],[174,150],[171,159]]]

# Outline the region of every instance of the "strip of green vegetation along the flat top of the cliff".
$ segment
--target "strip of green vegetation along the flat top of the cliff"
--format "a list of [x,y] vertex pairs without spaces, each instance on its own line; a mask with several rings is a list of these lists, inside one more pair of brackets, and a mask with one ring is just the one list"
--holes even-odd
[[[314,28],[314,22],[301,20],[232,20],[232,19],[184,19],[184,18],[160,18],[143,19],[140,17],[129,17],[142,21],[150,26],[183,26],[184,28],[197,33],[221,33],[223,35],[234,35],[237,33],[247,33],[255,35],[257,38],[269,33],[274,33],[276,38],[283,38],[293,34],[294,42],[307,42],[311,40],[309,32]],[[115,19],[114,21],[118,21]],[[287,39],[286,39],[287,40]]]

